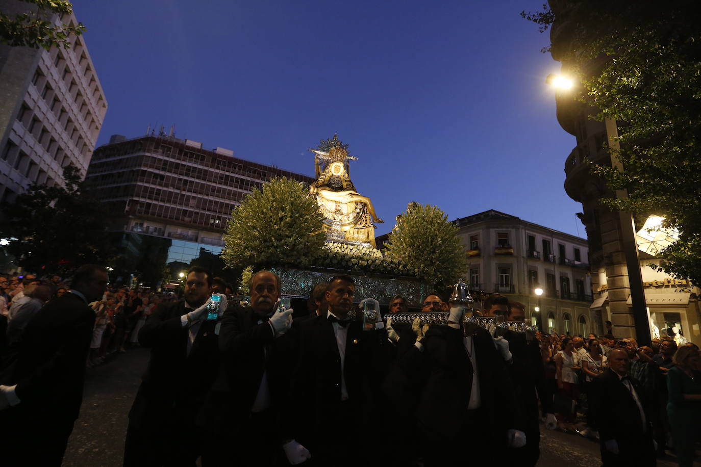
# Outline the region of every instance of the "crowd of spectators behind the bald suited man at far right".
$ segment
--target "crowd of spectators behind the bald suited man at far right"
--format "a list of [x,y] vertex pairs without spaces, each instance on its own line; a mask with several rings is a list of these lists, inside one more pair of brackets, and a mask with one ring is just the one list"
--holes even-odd
[[693,397],[686,398],[685,394],[691,396],[695,389],[686,387],[685,383],[701,385],[696,344],[678,345],[672,337],[662,337],[653,339],[650,347],[639,347],[636,340],[616,338],[611,332],[601,337],[590,334],[586,338],[539,332],[536,337],[559,430],[599,438],[593,407],[597,398],[592,392],[592,382],[608,368],[611,351],[620,349],[629,358],[629,375],[639,382],[644,400],[649,401],[658,456],[664,456],[665,449],[674,449],[680,465],[693,456],[700,433],[697,422],[690,422],[688,417],[697,417],[701,404]]

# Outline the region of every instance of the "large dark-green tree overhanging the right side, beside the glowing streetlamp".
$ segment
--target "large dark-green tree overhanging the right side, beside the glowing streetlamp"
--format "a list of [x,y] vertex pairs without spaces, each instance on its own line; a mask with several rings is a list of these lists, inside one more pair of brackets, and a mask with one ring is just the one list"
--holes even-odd
[[559,8],[526,15],[541,29],[566,22],[553,57],[583,83],[580,101],[599,109],[592,117],[618,122],[625,172],[593,172],[629,197],[604,204],[664,216],[680,239],[658,255],[662,270],[701,284],[701,4],[574,0]]

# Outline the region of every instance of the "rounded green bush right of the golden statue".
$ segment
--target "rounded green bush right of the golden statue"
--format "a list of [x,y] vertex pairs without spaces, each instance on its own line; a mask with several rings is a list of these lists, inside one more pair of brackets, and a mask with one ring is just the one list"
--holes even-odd
[[458,228],[435,206],[411,203],[389,235],[387,257],[432,283],[454,284],[468,269]]

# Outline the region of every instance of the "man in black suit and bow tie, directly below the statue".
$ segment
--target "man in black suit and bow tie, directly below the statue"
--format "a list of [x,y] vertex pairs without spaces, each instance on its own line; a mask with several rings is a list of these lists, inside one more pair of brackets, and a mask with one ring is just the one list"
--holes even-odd
[[381,448],[379,387],[386,374],[387,333],[381,321],[364,329],[362,321],[351,320],[354,296],[353,278],[334,277],[325,294],[327,315],[294,329],[296,403],[288,419],[294,438],[319,466],[377,461]]

